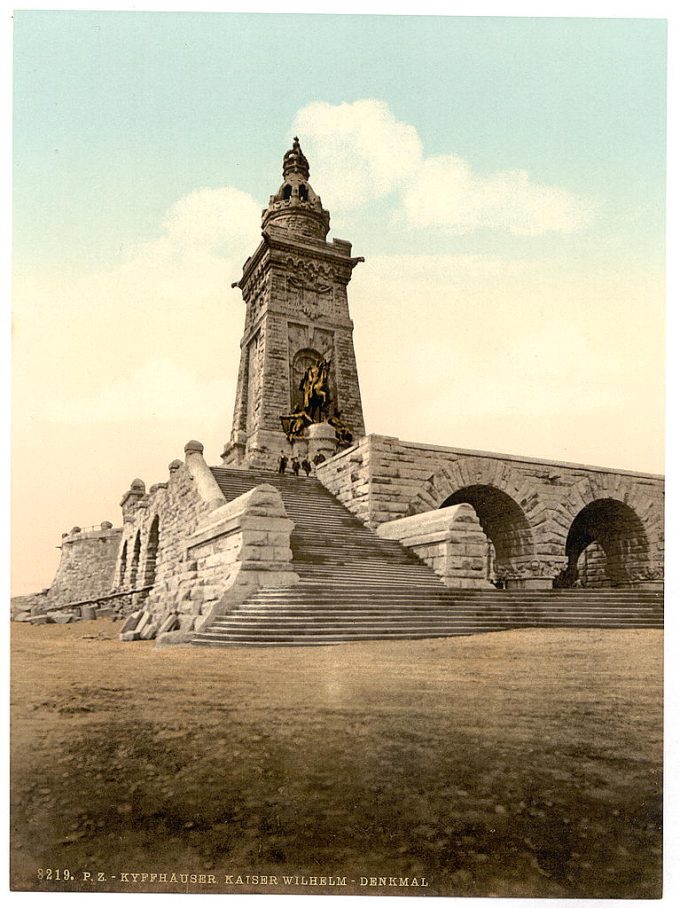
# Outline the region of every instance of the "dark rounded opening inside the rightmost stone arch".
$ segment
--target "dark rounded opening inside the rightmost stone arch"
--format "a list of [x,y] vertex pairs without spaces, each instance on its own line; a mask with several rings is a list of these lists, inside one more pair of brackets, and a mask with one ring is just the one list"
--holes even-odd
[[635,511],[615,498],[600,498],[574,519],[560,585],[626,587],[649,568],[649,541]]

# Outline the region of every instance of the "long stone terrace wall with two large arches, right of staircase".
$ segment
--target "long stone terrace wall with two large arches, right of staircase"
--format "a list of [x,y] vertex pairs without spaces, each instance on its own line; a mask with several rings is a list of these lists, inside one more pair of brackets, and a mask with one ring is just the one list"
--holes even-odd
[[[496,576],[509,587],[571,585],[586,550],[599,564],[598,585],[657,587],[663,581],[660,476],[379,435],[366,436],[323,464],[318,476],[368,525],[396,521],[389,531],[383,527],[384,534],[402,541],[417,537],[434,544],[428,515],[471,506],[493,544]],[[442,535],[441,525],[439,514],[437,538],[451,543],[455,534]],[[468,556],[470,568],[479,547],[472,536],[467,539],[467,550],[458,546],[458,562]]]

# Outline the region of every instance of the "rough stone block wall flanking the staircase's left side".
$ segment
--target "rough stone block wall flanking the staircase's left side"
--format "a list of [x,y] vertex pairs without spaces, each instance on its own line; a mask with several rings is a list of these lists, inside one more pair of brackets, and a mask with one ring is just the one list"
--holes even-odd
[[257,486],[227,503],[202,446],[190,442],[185,450],[186,462],[170,464],[167,483],[146,494],[135,480],[124,495],[115,578],[119,591],[133,590],[128,611],[143,608],[150,628],[176,615],[190,633],[258,587],[293,586],[299,577],[290,568],[293,522],[279,492]]

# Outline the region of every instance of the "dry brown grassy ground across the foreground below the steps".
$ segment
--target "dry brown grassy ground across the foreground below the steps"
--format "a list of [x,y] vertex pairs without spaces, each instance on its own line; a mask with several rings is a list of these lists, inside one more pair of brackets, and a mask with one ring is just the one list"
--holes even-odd
[[[660,894],[659,631],[217,651],[116,631],[13,625],[15,889]],[[173,872],[216,882],[124,876]]]

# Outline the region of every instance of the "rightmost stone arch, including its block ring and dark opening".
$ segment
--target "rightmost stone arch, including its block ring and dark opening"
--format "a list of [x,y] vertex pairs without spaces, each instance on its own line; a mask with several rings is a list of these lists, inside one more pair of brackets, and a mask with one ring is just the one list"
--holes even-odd
[[583,551],[588,537],[605,551],[613,585],[662,580],[663,503],[654,491],[634,477],[604,472],[591,473],[568,490],[554,517],[567,585],[574,576],[574,552]]

